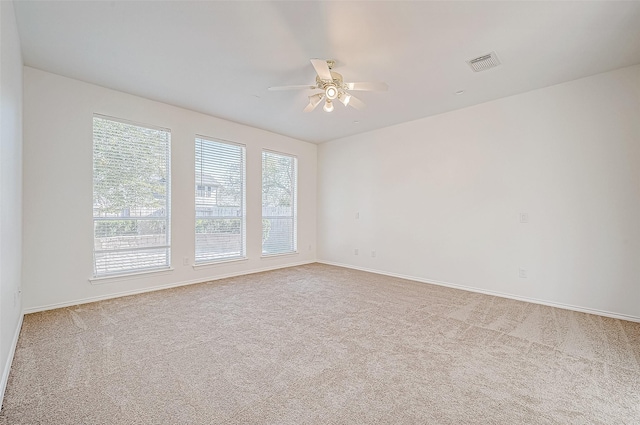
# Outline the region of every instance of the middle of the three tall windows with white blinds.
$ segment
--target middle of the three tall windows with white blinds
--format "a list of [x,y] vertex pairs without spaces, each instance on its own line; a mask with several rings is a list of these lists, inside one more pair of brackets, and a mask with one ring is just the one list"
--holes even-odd
[[196,264],[244,258],[245,148],[196,138]]

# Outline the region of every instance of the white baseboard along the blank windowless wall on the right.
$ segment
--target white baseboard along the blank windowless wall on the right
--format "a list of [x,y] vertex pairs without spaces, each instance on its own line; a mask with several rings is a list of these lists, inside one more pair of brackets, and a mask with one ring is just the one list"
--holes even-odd
[[348,269],[361,270],[361,271],[364,271],[364,272],[375,273],[375,274],[380,274],[380,275],[384,275],[384,276],[398,277],[398,278],[401,278],[401,279],[413,280],[413,281],[416,281],[416,282],[428,283],[428,284],[431,284],[431,285],[446,286],[446,287],[449,287],[449,288],[462,289],[464,291],[469,291],[469,292],[477,292],[477,293],[480,293],[480,294],[493,295],[493,296],[501,297],[501,298],[509,298],[509,299],[517,300],[517,301],[525,301],[525,302],[528,302],[528,303],[546,305],[546,306],[549,306],[549,307],[556,307],[556,308],[561,308],[561,309],[564,309],[564,310],[579,311],[581,313],[595,314],[595,315],[598,315],[598,316],[605,316],[605,317],[611,317],[613,319],[628,320],[630,322],[639,322],[640,323],[640,317],[638,317],[638,316],[631,316],[631,315],[627,315],[627,314],[613,313],[613,312],[610,312],[610,311],[597,310],[597,309],[594,309],[594,308],[579,307],[579,306],[575,306],[575,305],[571,305],[571,304],[562,304],[562,303],[557,303],[557,302],[553,302],[553,301],[540,300],[540,299],[537,299],[537,298],[521,297],[519,295],[505,294],[503,292],[490,291],[490,290],[481,289],[481,288],[474,288],[472,286],[459,285],[459,284],[450,283],[450,282],[442,282],[442,281],[434,280],[434,279],[424,279],[424,278],[415,277],[415,276],[407,276],[407,275],[403,275],[403,274],[399,274],[399,273],[390,273],[390,272],[385,272],[385,271],[382,271],[382,270],[375,270],[375,269],[368,269],[368,268],[365,268],[365,267],[352,266],[350,264],[336,263],[336,262],[333,262],[333,261],[318,260],[317,262],[318,263],[322,263],[322,264],[328,264],[330,266],[345,267],[345,268],[348,268]]

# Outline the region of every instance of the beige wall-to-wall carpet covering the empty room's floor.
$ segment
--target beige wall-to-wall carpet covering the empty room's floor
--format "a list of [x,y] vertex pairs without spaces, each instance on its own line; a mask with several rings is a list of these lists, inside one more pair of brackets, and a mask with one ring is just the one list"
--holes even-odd
[[639,424],[640,324],[320,264],[27,315],[1,424]]

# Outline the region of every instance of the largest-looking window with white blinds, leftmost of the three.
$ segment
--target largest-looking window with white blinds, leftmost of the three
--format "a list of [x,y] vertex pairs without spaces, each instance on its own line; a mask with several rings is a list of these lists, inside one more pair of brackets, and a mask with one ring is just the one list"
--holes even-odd
[[169,130],[93,117],[94,277],[167,268]]

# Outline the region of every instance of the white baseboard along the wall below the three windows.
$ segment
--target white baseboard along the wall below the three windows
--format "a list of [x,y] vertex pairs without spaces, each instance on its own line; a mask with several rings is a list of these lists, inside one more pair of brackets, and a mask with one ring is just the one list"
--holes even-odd
[[212,282],[215,280],[227,279],[227,278],[236,277],[236,276],[244,276],[244,275],[249,275],[254,273],[262,273],[270,270],[284,269],[287,267],[302,266],[305,264],[312,264],[315,262],[316,262],[315,260],[311,260],[311,261],[301,261],[298,263],[284,264],[284,265],[278,265],[278,266],[262,267],[259,269],[247,270],[243,272],[227,273],[227,274],[223,274],[223,275],[219,275],[211,278],[186,280],[182,282],[169,283],[166,285],[151,286],[148,288],[134,289],[131,291],[115,292],[112,294],[99,295],[96,297],[80,298],[80,299],[65,301],[61,303],[47,304],[47,305],[42,305],[37,307],[29,307],[24,309],[24,314],[37,313],[40,311],[47,311],[47,310],[55,310],[56,308],[71,307],[71,306],[80,305],[80,304],[88,304],[96,301],[103,301],[103,300],[109,300],[112,298],[125,297],[127,295],[143,294],[145,292],[160,291],[162,289],[177,288],[179,286],[193,285],[196,283]]

